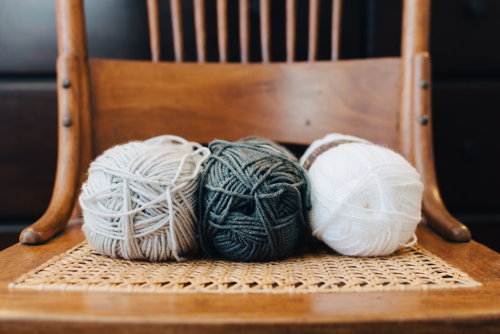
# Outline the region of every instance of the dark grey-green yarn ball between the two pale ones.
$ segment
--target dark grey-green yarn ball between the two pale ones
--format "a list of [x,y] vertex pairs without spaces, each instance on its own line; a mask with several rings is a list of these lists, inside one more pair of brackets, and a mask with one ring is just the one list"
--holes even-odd
[[203,250],[233,261],[271,261],[306,239],[307,173],[286,148],[264,138],[212,141],[200,186]]

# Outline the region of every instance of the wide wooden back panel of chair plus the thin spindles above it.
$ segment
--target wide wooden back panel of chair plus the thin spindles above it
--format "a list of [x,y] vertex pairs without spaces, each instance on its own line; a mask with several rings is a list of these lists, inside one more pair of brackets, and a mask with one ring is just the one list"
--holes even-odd
[[[338,59],[339,0],[332,1],[331,59],[315,60],[318,1],[309,2],[307,61],[294,62],[295,8],[285,10],[286,62],[271,63],[270,2],[259,3],[261,62],[249,62],[249,2],[238,3],[239,63],[227,62],[227,1],[216,2],[218,63],[206,62],[204,1],[170,1],[173,62],[159,62],[157,1],[148,0],[151,62],[90,60],[93,155],[164,133],[207,143],[261,135],[307,145],[345,132],[397,149],[401,63]],[[183,62],[182,15],[193,16],[197,63]],[[185,12],[185,10],[183,10]],[[143,124],[138,124],[138,120]]]

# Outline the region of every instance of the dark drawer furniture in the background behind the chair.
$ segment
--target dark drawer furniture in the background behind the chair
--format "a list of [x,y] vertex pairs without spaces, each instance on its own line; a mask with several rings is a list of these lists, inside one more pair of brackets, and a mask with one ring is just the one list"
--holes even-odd
[[[320,31],[329,30],[331,4],[321,2]],[[185,58],[195,60],[191,1],[183,1]],[[283,61],[284,0],[271,1],[278,25],[271,29],[271,61]],[[171,60],[168,1],[162,60]],[[228,2],[229,61],[238,61],[237,2]],[[297,0],[297,13],[307,1]],[[250,1],[250,61],[259,61],[258,0]],[[398,56],[400,0],[346,0],[343,5],[340,58]],[[206,0],[206,16],[215,1]],[[87,0],[91,57],[149,59],[145,1]],[[297,18],[296,60],[305,60],[307,22]],[[430,54],[433,61],[432,108],[438,183],[448,210],[472,231],[472,237],[500,251],[500,2],[434,0]],[[305,20],[305,21],[304,21]],[[214,22],[206,22],[207,45],[216,42]],[[318,58],[329,57],[328,36],[319,34]],[[57,57],[55,2],[0,2],[0,249],[17,241],[20,230],[48,205],[55,175]],[[206,51],[217,61],[216,48]]]

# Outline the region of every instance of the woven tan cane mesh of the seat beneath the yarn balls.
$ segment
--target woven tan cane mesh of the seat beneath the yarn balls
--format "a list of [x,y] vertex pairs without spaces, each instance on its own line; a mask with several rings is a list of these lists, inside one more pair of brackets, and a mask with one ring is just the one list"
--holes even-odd
[[318,250],[283,261],[240,263],[111,259],[81,243],[22,275],[15,289],[166,293],[321,293],[426,290],[480,283],[414,245],[386,257]]

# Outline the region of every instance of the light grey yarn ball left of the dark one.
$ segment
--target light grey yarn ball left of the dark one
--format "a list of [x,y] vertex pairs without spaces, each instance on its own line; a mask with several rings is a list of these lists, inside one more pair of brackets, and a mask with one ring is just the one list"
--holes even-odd
[[102,255],[185,259],[198,248],[198,187],[208,148],[176,136],[114,146],[88,169],[82,230]]

